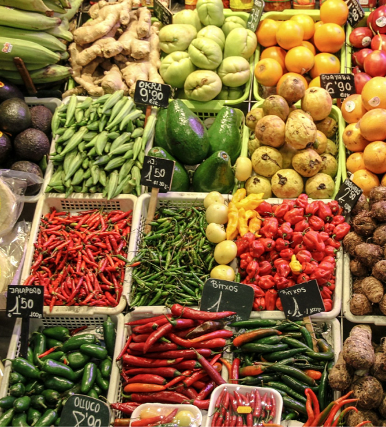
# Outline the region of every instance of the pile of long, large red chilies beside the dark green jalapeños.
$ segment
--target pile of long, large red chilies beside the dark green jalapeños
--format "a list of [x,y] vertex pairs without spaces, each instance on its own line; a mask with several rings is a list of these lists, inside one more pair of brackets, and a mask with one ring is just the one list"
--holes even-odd
[[219,320],[235,313],[208,313],[180,304],[171,311],[127,323],[132,333],[117,360],[123,360],[123,397],[130,402],[112,404],[112,409],[130,415],[139,404],[156,402],[190,403],[206,410],[212,390],[225,384],[218,361],[233,333]]

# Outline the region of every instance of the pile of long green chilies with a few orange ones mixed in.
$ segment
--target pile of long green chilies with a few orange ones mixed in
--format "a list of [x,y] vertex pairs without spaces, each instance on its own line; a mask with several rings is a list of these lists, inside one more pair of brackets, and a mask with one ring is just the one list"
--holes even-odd
[[231,326],[238,331],[233,341],[233,366],[240,364],[238,384],[277,390],[283,397],[283,419],[307,418],[306,388],[316,393],[321,410],[331,402],[328,374],[334,349],[321,335],[328,330],[327,324],[314,324],[318,351],[303,321],[255,319]]

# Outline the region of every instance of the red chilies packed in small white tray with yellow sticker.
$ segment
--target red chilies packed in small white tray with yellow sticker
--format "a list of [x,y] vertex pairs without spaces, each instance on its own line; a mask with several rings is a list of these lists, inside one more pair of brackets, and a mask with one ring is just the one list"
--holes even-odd
[[[248,408],[243,410],[243,407]],[[210,414],[211,415],[211,414]],[[258,389],[245,395],[234,390],[233,395],[223,389],[216,400],[211,427],[254,427],[269,423],[276,416],[274,394],[261,397]]]

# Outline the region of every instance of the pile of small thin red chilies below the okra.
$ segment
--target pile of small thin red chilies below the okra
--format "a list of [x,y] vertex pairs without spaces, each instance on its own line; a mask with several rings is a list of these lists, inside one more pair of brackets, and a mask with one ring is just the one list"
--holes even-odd
[[91,210],[43,216],[30,276],[50,306],[114,307],[121,298],[132,211]]

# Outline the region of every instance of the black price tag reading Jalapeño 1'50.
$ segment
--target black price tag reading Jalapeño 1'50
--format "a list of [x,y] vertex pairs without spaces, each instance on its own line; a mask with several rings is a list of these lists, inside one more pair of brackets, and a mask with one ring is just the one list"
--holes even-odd
[[10,285],[7,290],[8,317],[43,317],[43,286]]

